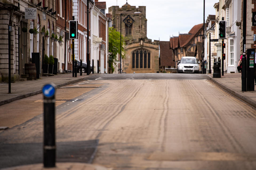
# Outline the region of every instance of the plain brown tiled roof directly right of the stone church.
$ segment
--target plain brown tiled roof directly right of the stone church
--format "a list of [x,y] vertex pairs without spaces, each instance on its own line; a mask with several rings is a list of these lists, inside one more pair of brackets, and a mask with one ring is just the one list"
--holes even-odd
[[174,66],[173,53],[169,47],[169,41],[160,41],[160,66]]

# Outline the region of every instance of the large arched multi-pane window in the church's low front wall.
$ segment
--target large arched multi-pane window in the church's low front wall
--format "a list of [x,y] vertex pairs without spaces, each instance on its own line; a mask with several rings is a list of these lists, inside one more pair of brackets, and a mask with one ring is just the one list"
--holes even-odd
[[150,52],[138,49],[132,53],[132,68],[150,68]]

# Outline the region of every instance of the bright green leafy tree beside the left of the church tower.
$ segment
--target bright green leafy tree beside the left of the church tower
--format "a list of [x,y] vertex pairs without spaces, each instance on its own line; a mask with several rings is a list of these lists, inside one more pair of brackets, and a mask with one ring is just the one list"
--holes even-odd
[[[123,53],[123,44],[124,44],[124,38],[121,36],[122,39],[122,53]],[[113,27],[109,27],[109,52],[110,57],[112,57],[113,60],[117,60],[117,54],[120,53],[120,32],[118,32]],[[123,56],[122,56],[123,58]]]

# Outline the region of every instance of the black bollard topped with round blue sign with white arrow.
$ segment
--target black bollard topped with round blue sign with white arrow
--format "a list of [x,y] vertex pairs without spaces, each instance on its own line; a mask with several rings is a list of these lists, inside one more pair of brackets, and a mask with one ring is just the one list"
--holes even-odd
[[43,165],[55,167],[55,88],[53,84],[46,84],[43,89]]

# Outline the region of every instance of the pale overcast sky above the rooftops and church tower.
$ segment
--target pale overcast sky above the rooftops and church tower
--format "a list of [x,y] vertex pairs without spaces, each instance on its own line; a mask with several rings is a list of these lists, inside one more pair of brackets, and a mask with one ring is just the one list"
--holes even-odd
[[[126,0],[99,0],[106,2],[107,13],[111,6],[123,6]],[[203,23],[203,0],[127,0],[131,6],[146,6],[147,38],[169,41],[170,36],[188,33]],[[214,4],[219,1],[205,0],[205,20],[215,15]]]

